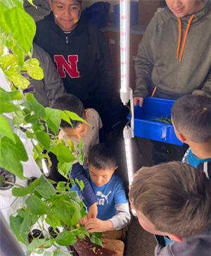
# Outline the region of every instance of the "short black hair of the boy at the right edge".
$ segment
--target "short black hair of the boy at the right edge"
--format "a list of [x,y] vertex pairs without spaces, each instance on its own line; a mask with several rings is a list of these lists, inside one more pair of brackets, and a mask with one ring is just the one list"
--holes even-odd
[[203,143],[211,138],[211,99],[186,95],[172,106],[174,127],[188,140]]

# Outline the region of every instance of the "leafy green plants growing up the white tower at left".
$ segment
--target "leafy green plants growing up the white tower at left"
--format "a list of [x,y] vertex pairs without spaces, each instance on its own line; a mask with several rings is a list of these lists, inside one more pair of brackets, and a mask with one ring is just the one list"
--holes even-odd
[[[32,0],[28,0],[33,5]],[[22,185],[15,185],[12,193],[15,197],[25,197],[25,205],[17,209],[17,212],[10,216],[10,226],[16,238],[27,245],[27,252],[44,253],[46,256],[69,255],[68,252],[60,250],[58,245],[68,246],[76,243],[76,236],[84,238],[89,232],[79,224],[79,219],[85,217],[87,211],[84,203],[79,199],[77,192],[70,190],[70,184],[74,181],[68,176],[72,163],[77,159],[83,164],[84,153],[82,151],[82,140],[77,145],[81,154],[75,155],[76,148],[72,142],[68,147],[63,140],[58,140],[58,130],[61,119],[70,123],[72,120],[83,121],[70,111],[44,108],[34,99],[32,94],[23,92],[30,85],[30,82],[20,75],[20,71],[27,71],[29,75],[37,80],[44,77],[43,70],[39,67],[39,61],[32,59],[32,41],[35,35],[36,26],[32,17],[23,8],[23,0],[0,0],[0,67],[11,83],[11,92],[6,92],[0,87],[0,114],[13,113],[13,126],[24,127],[27,138],[32,141],[34,147],[34,160],[41,168],[41,160],[47,159],[49,166],[51,160],[48,152],[56,154],[58,159],[58,172],[67,178],[67,182],[59,182],[56,188],[54,181],[50,181],[44,175],[32,181],[27,188]],[[4,54],[7,47],[11,54]],[[25,61],[25,57],[30,59]],[[18,90],[17,90],[18,88]],[[15,101],[15,103],[14,103]],[[21,101],[22,103],[18,103]],[[49,133],[49,130],[52,133]],[[44,154],[44,150],[46,153]],[[77,157],[77,158],[76,158]],[[18,135],[8,124],[4,116],[0,116],[0,166],[10,171],[20,179],[29,179],[23,175],[21,162],[28,160],[27,152]],[[84,184],[76,181],[81,190]],[[8,183],[4,176],[0,176],[0,185]],[[44,223],[53,227],[54,236],[50,238],[34,238],[32,226],[38,224],[41,232]],[[63,227],[63,232],[58,233],[56,227]],[[52,232],[52,231],[51,231]],[[46,231],[49,233],[49,231]],[[56,235],[55,235],[56,233]],[[29,242],[28,235],[31,235],[32,242]],[[49,233],[50,236],[50,233]],[[39,239],[41,238],[41,239]],[[93,233],[92,243],[102,246],[101,234]],[[46,252],[46,248],[55,247],[53,252]]]

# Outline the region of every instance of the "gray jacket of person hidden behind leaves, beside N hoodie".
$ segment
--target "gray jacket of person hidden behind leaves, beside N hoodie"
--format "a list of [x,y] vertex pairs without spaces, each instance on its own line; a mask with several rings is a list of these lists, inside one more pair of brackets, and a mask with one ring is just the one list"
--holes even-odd
[[37,102],[46,107],[49,106],[51,100],[66,92],[65,87],[49,54],[36,44],[33,44],[32,58],[38,59],[39,66],[44,70],[44,78],[42,80],[34,80],[28,75],[27,71],[21,71],[21,74],[30,80],[29,87],[23,92],[33,93]]

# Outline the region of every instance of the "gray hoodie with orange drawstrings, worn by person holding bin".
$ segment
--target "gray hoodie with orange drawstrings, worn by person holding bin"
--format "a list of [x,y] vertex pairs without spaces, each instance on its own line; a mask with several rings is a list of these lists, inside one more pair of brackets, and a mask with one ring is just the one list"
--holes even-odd
[[152,86],[172,94],[211,96],[211,0],[194,13],[181,54],[190,18],[181,18],[178,59],[178,18],[168,7],[152,18],[139,44],[134,97],[151,96]]

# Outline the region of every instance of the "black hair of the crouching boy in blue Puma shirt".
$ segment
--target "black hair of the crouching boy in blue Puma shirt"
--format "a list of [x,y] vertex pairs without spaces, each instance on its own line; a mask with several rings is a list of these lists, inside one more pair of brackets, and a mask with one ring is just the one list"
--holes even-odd
[[89,150],[88,157],[89,164],[99,170],[111,170],[117,166],[117,157],[113,147],[110,147],[104,143],[94,145]]

